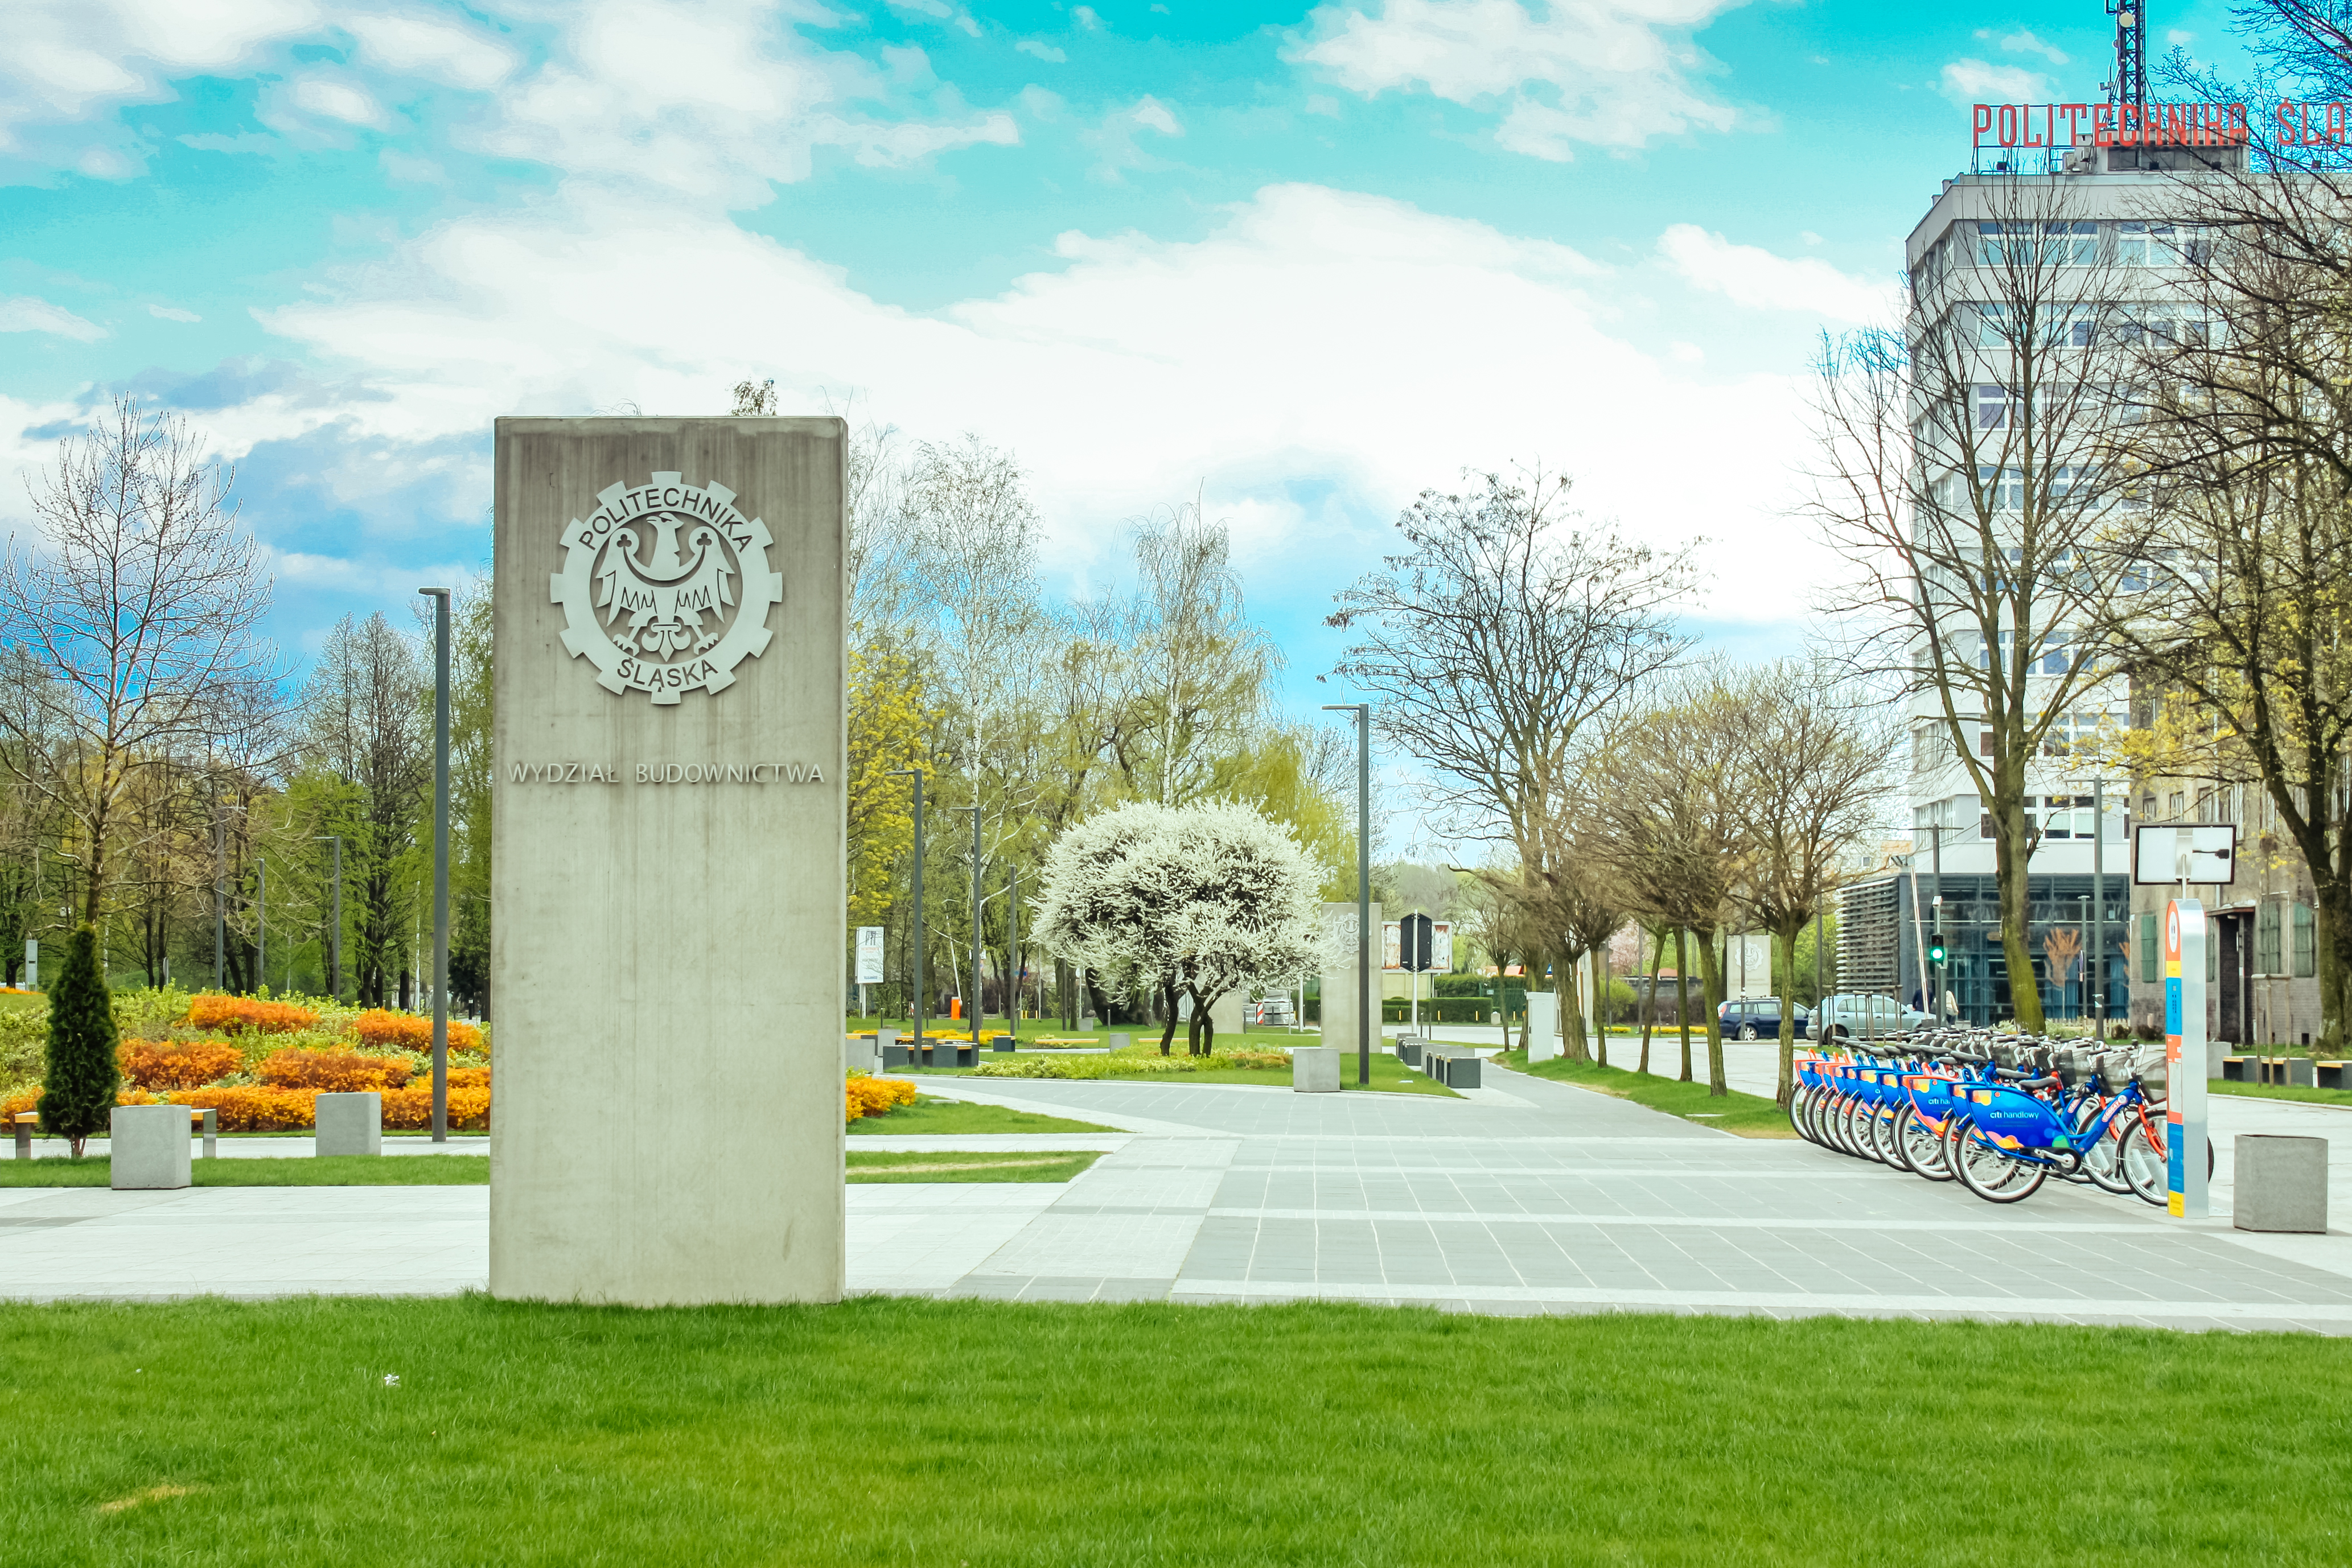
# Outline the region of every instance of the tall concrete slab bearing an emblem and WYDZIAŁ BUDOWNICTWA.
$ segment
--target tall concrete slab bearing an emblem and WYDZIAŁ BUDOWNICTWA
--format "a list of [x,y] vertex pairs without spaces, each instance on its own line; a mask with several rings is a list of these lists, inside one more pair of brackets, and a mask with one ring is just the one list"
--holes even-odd
[[837,418],[501,418],[489,1288],[842,1293]]

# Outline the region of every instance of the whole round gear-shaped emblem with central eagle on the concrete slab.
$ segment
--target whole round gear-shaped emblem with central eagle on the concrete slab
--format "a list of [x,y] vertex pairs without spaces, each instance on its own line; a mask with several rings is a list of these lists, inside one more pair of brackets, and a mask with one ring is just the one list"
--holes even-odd
[[647,691],[668,705],[720,693],[746,654],[767,649],[783,576],[767,569],[767,524],[746,520],[724,484],[675,473],[614,484],[562,543],[550,592],[564,607],[564,646],[614,696]]

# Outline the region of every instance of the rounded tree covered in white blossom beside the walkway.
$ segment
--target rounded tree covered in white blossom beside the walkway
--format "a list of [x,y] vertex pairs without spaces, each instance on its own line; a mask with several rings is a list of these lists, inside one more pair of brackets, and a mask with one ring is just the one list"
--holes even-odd
[[1207,1056],[1211,1004],[1315,961],[1319,882],[1298,842],[1251,806],[1134,802],[1077,823],[1047,851],[1037,940],[1148,985],[1167,1009],[1162,1056],[1190,997],[1185,1044]]

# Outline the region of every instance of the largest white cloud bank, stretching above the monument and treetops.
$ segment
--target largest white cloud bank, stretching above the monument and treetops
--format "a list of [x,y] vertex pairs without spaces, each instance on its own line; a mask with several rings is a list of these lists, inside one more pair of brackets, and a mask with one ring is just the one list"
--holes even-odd
[[[788,409],[861,388],[901,428],[1014,447],[1073,571],[1120,520],[1207,482],[1247,520],[1244,559],[1327,595],[1418,489],[1538,456],[1597,515],[1724,541],[1710,559],[1757,590],[1743,604],[1802,604],[1820,571],[1778,520],[1795,386],[1708,381],[1611,336],[1642,273],[1317,186],[1265,188],[1202,240],[1068,233],[1056,252],[1002,294],[908,313],[701,207],[574,188],[449,221],[343,296],[266,315],[336,395],[254,395],[207,425],[228,451],[334,433],[353,473],[322,482],[390,494],[400,454],[466,449],[496,414],[717,411],[755,367]],[[1350,515],[1381,524],[1359,536]]]

